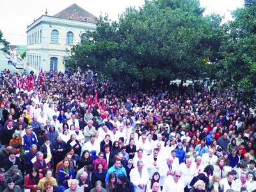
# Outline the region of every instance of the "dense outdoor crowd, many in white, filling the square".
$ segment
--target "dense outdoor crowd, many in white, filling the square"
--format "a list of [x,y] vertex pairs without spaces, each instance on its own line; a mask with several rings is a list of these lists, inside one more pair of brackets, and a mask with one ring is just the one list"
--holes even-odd
[[256,109],[232,90],[23,78],[0,76],[0,191],[256,191]]

